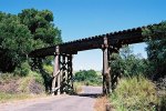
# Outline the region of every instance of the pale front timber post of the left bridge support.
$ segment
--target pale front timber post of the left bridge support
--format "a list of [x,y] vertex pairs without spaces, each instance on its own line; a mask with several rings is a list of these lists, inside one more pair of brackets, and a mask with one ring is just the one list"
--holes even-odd
[[60,47],[55,48],[53,80],[52,80],[52,95],[60,94]]

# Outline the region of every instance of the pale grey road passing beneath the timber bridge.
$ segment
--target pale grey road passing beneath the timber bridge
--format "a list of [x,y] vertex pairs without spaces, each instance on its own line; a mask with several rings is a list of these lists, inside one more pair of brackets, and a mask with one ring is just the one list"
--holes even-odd
[[42,99],[1,103],[0,111],[94,111],[100,87],[83,87],[79,95],[55,95]]

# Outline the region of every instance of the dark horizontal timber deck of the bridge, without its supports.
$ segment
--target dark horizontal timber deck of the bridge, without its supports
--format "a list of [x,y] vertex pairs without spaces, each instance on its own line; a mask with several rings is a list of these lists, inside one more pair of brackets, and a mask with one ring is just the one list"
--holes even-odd
[[[158,24],[153,24],[158,26]],[[77,51],[102,49],[103,39],[106,37],[108,46],[121,48],[123,44],[132,44],[143,42],[146,37],[142,34],[143,29],[152,26],[138,27],[118,32],[111,32],[102,36],[95,36],[91,38],[80,39],[75,41],[64,42],[58,44],[60,47],[60,53],[76,54]],[[56,46],[37,49],[29,53],[30,58],[44,58],[46,56],[55,54]]]

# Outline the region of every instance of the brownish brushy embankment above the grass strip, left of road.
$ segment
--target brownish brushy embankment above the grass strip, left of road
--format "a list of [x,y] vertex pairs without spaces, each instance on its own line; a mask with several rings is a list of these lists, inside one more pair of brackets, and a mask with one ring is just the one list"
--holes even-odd
[[44,91],[43,85],[38,83],[33,78],[0,77],[0,92],[3,93],[34,93],[39,94]]

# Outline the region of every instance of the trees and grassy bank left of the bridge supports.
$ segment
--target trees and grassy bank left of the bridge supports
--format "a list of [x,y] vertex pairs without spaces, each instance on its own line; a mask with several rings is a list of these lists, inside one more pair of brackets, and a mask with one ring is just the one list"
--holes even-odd
[[18,14],[0,12],[0,101],[49,93],[53,58],[33,65],[28,54],[61,42],[61,31],[49,10],[24,9]]

